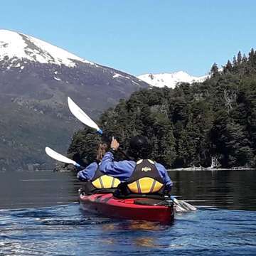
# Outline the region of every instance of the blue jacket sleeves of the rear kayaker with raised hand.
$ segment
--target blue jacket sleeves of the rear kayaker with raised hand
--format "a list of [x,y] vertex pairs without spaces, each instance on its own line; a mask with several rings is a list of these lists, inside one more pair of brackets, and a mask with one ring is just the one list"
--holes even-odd
[[[166,169],[159,163],[155,164],[161,178],[163,178],[166,189],[171,190],[173,183],[167,174]],[[129,179],[130,176],[132,176],[135,166],[135,161],[114,161],[114,155],[111,152],[107,152],[105,156],[103,156],[102,162],[100,164],[100,171],[102,171],[104,174],[113,176],[114,178],[119,178],[119,181],[121,182],[125,182]]]

